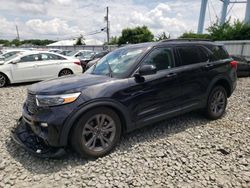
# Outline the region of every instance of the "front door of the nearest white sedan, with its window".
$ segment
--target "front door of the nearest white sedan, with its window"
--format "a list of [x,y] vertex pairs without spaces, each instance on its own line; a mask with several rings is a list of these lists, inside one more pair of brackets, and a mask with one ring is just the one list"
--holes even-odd
[[21,57],[20,61],[12,64],[12,76],[15,82],[37,81],[40,80],[39,54],[32,54]]

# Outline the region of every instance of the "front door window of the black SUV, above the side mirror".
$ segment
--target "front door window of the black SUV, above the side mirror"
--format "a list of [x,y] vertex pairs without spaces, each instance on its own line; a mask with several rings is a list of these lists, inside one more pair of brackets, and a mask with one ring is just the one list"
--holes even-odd
[[143,63],[154,65],[157,70],[169,69],[173,64],[172,52],[169,48],[157,48],[147,56]]

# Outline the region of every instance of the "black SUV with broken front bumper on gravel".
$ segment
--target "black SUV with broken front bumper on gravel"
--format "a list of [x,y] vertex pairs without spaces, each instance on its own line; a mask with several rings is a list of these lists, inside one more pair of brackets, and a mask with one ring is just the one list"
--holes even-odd
[[203,110],[220,118],[236,87],[237,62],[211,41],[128,45],[80,76],[32,85],[13,139],[41,157],[72,146],[83,157],[109,153],[122,133]]

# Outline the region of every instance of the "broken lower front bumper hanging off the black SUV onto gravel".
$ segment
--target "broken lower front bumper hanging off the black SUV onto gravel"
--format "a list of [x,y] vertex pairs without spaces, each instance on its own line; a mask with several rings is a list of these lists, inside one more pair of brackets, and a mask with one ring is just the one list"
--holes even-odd
[[12,139],[35,156],[43,158],[58,158],[66,153],[64,148],[52,147],[46,142],[46,140],[37,136],[23,118],[20,118],[17,121],[16,126],[11,132]]

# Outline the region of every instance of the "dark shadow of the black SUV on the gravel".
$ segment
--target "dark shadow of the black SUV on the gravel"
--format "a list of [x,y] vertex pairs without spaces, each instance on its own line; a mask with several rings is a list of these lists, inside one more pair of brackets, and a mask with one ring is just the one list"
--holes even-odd
[[[135,144],[143,143],[148,140],[154,141],[156,139],[168,138],[169,136],[183,132],[188,128],[205,126],[209,122],[210,121],[203,117],[199,112],[191,112],[172,119],[164,120],[123,135],[118,146],[112,153],[118,152],[118,155],[122,155],[124,152],[128,152],[132,149]],[[152,134],[154,135],[153,137]],[[136,142],[133,141],[135,140],[133,138],[136,138]],[[21,163],[28,171],[36,174],[50,174],[58,172],[68,166],[74,167],[85,165],[90,161],[93,161],[81,158],[71,149],[68,150],[65,156],[58,159],[38,158],[19,147],[12,139],[6,141],[6,148],[14,160]],[[110,155],[112,155],[112,153]],[[97,160],[98,159],[96,159],[96,161]]]

